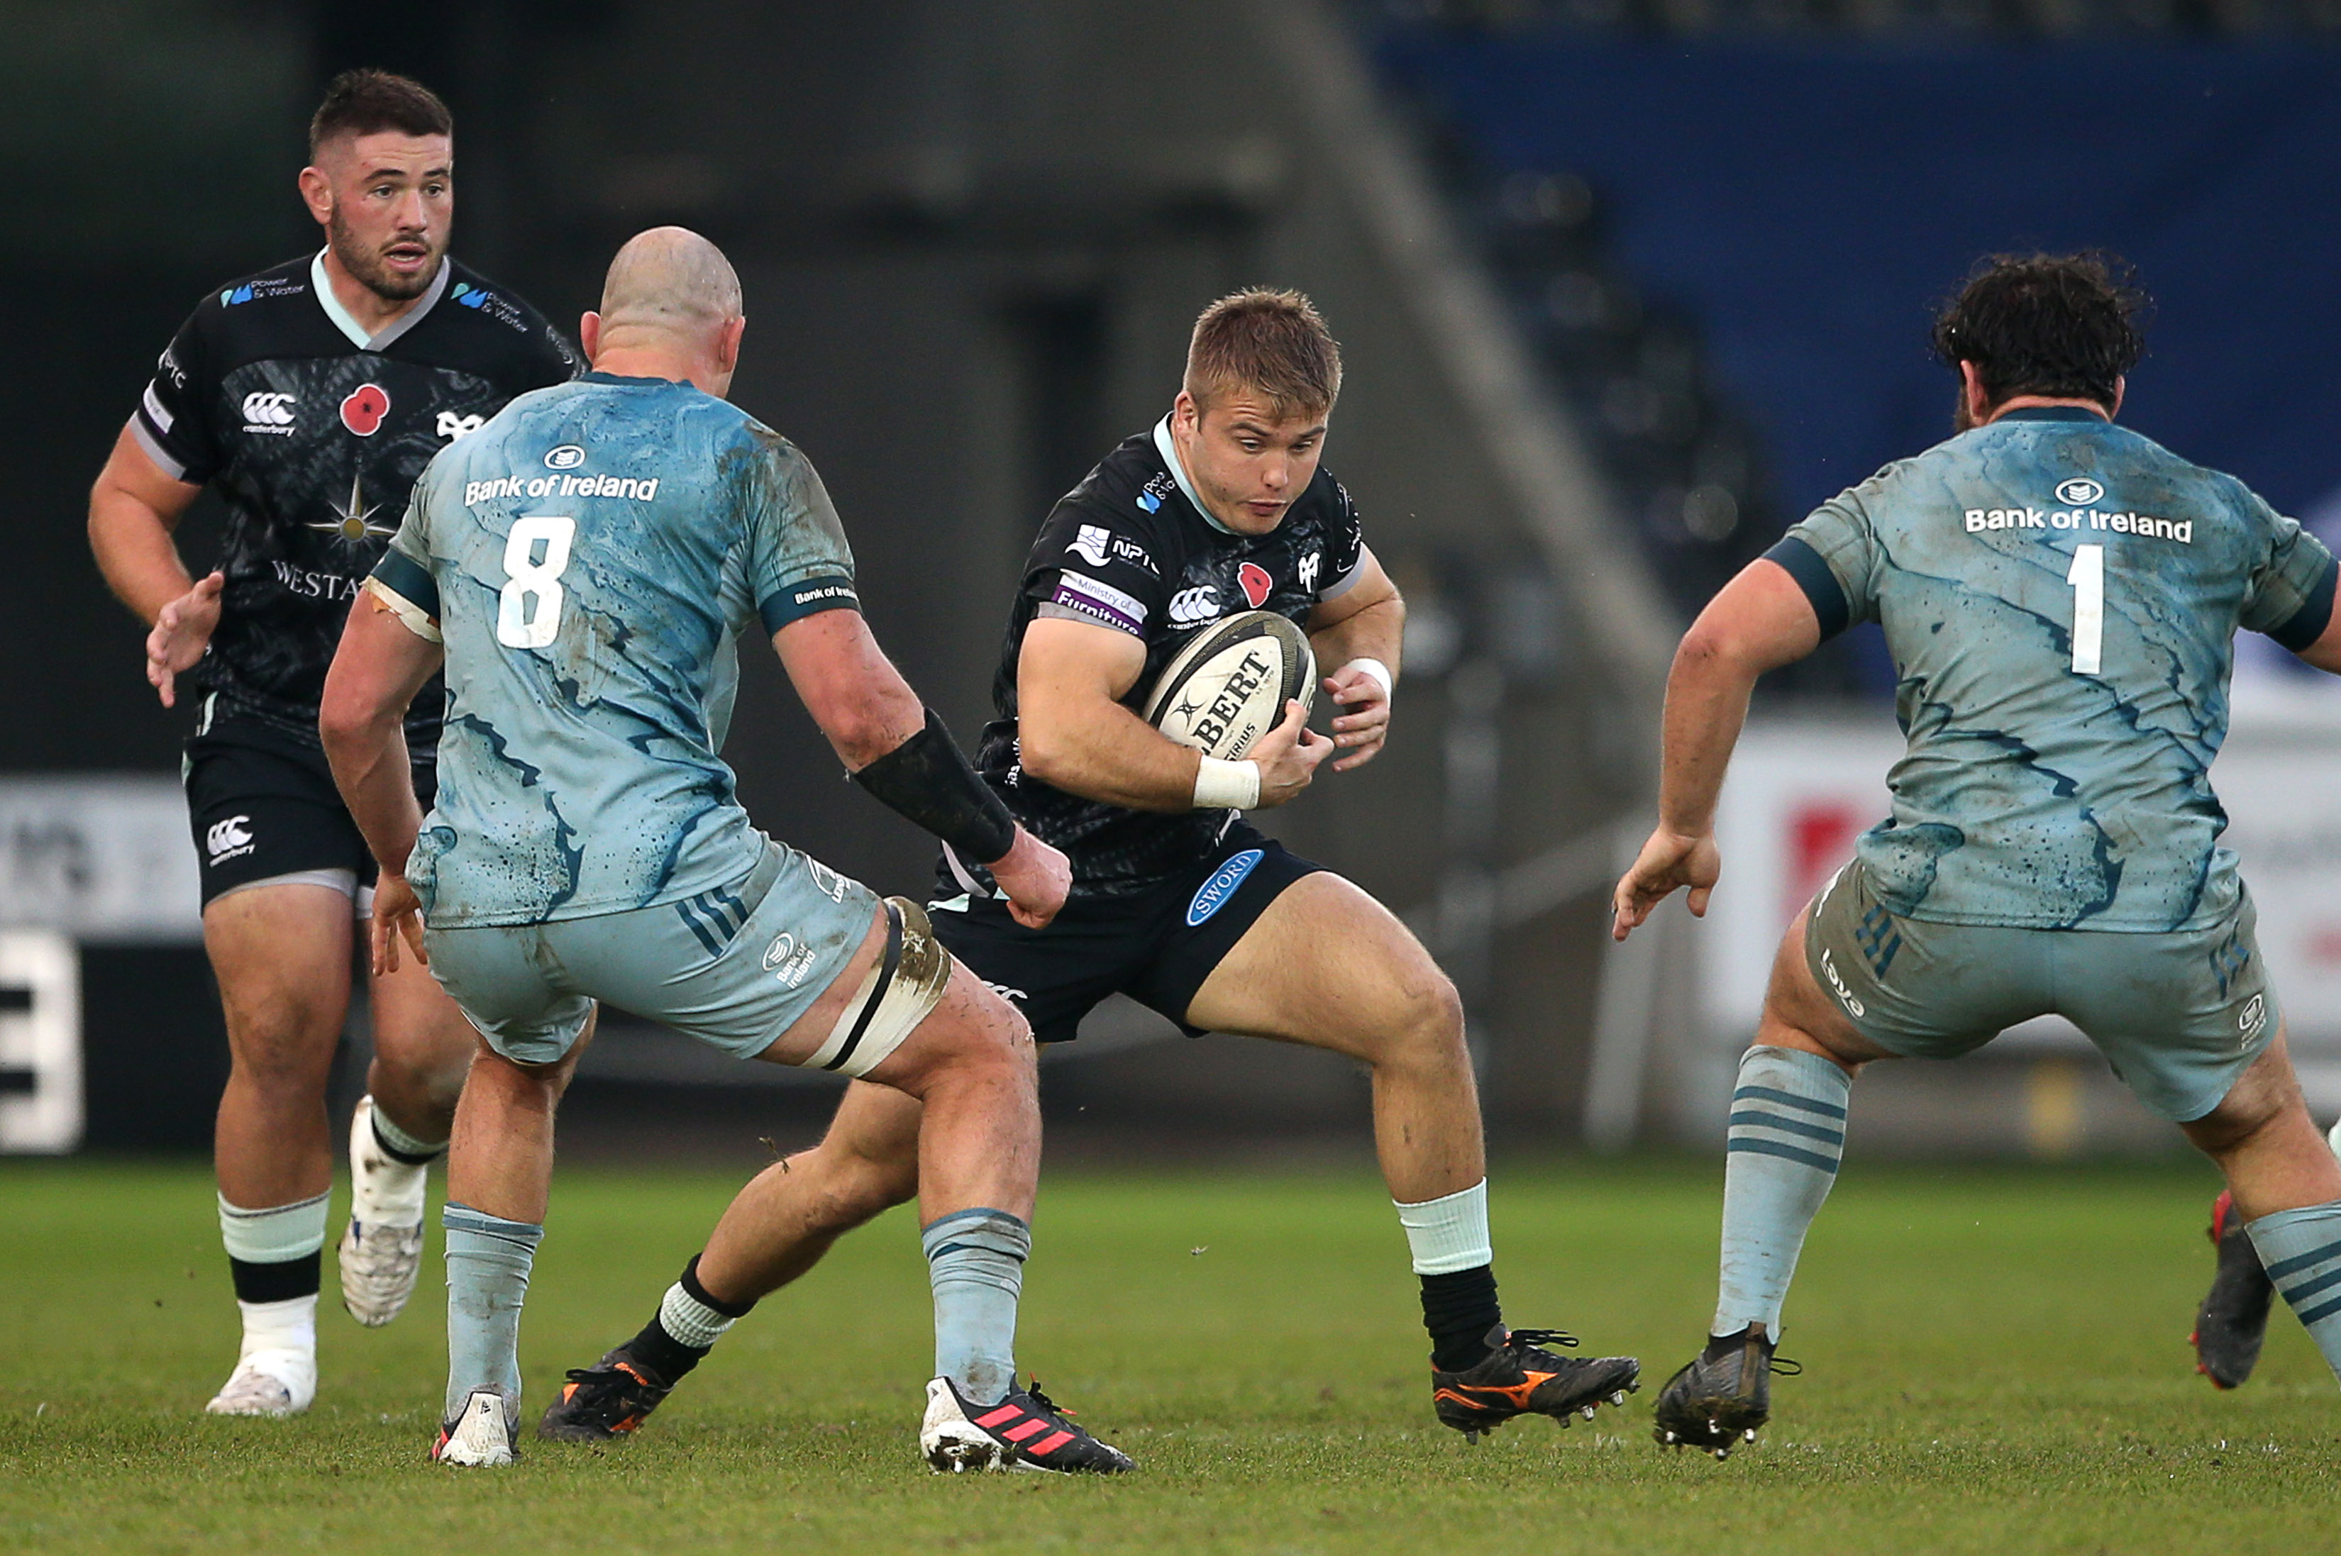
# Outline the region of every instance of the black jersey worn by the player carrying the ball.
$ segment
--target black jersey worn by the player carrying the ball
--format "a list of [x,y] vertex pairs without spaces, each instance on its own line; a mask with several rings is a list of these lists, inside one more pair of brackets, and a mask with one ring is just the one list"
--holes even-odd
[[[983,725],[976,770],[1025,831],[1065,849],[1075,899],[1131,896],[1194,866],[1236,812],[1124,810],[1028,774],[1016,756],[1016,660],[1032,618],[1065,615],[1142,639],[1147,667],[1126,697],[1135,711],[1206,625],[1276,611],[1306,627],[1318,601],[1358,583],[1362,562],[1358,508],[1323,466],[1264,536],[1229,533],[1206,517],[1187,491],[1168,419],[1128,438],[1049,510],[1009,613],[993,679],[997,718]],[[943,894],[988,891],[990,877],[943,849],[939,884]]]

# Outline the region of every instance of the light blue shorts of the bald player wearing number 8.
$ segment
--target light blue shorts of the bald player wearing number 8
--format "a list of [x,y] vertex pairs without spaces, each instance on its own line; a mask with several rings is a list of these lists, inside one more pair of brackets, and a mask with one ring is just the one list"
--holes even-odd
[[766,838],[740,880],[684,901],[426,929],[424,945],[440,985],[513,1062],[564,1058],[597,999],[747,1060],[812,1008],[876,913],[859,880]]

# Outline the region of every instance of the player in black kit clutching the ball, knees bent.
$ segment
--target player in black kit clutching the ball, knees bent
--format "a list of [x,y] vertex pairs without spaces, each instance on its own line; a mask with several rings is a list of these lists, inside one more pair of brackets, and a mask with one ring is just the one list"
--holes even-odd
[[[1072,859],[1046,929],[950,847],[934,931],[1032,1023],[1072,1041],[1124,992],[1189,1034],[1309,1044],[1372,1067],[1381,1170],[1421,1278],[1437,1418],[1477,1439],[1519,1413],[1566,1423],[1622,1402],[1625,1357],[1557,1357],[1550,1329],[1505,1329],[1487,1226],[1480,1102],[1454,985],[1381,903],[1243,821],[1295,800],[1323,760],[1374,758],[1391,723],[1405,606],[1365,548],[1348,491],[1318,468],[1341,358],[1297,292],[1238,292],[1194,328],[1168,416],[1128,438],[1042,524],[1009,613],[997,718],[979,770],[1009,812]],[[1341,707],[1332,739],[1302,704],[1245,760],[1166,739],[1133,707],[1196,632],[1245,608],[1299,622]],[[733,1200],[716,1242],[754,1259],[695,1264],[695,1301],[726,1324],[796,1280],[845,1231],[918,1191],[920,1107],[852,1086],[819,1147]],[[684,1289],[679,1282],[674,1292]],[[660,1317],[571,1373],[555,1439],[641,1425],[719,1329]],[[981,1416],[979,1425],[990,1423]],[[995,1430],[1030,1430],[1014,1413]]]

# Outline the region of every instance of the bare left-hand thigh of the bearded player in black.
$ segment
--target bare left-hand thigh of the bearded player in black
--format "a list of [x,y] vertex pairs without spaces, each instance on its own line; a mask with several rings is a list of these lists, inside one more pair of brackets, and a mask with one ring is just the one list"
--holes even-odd
[[241,1069],[323,1074],[349,1013],[351,941],[349,894],[335,887],[260,884],[204,908],[204,950]]

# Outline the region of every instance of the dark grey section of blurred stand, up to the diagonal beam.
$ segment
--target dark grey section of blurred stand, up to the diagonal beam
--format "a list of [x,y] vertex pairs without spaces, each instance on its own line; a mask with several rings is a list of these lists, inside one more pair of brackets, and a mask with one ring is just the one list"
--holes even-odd
[[[1573,1130],[1611,833],[1643,793],[1674,620],[1337,12],[489,0],[110,16],[145,30],[140,63],[115,68],[68,21],[30,26],[9,108],[47,159],[40,232],[0,264],[16,297],[44,302],[28,328],[54,367],[5,391],[40,519],[0,590],[26,641],[54,650],[0,688],[0,767],[176,767],[185,721],[152,707],[138,634],[89,564],[87,482],[192,300],[314,243],[293,173],[321,80],[389,63],[438,84],[461,122],[456,250],[555,318],[595,300],[639,227],[726,243],[754,321],[737,400],[819,463],[880,639],[962,739],[986,716],[1032,526],[1166,409],[1196,309],[1259,281],[1311,290],[1351,363],[1332,466],[1419,629],[1393,749],[1274,824],[1409,913],[1456,969],[1498,1128]],[[204,519],[185,533],[201,559]],[[836,782],[777,674],[742,711],[728,756],[763,824],[873,882],[925,884],[929,845]],[[124,964],[147,999],[133,1015],[87,1001],[91,1053],[201,1055],[215,1074],[199,957],[84,962]],[[1053,1062],[1060,1142],[1093,1128],[1365,1147],[1346,1065],[1163,1041],[1135,1008],[1100,1013],[1091,1037]],[[630,1137],[751,1142],[824,1107],[794,1076],[754,1079],[618,1030],[571,1097],[574,1137],[609,1118]],[[94,1083],[89,1140],[199,1147],[208,1081],[105,1118],[105,1097],[131,1093]]]

